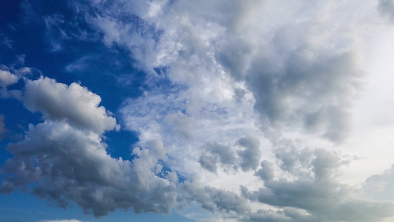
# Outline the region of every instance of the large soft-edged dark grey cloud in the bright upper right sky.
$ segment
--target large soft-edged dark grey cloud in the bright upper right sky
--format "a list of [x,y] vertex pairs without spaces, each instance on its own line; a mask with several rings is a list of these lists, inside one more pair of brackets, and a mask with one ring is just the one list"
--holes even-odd
[[283,31],[286,28],[292,27],[279,29],[270,43],[270,51],[279,55],[259,55],[246,72],[255,110],[274,128],[302,127],[341,142],[349,127],[351,96],[362,76],[357,50],[327,49],[323,42],[313,45],[309,41],[317,34],[308,31],[296,45],[286,45],[298,35]]

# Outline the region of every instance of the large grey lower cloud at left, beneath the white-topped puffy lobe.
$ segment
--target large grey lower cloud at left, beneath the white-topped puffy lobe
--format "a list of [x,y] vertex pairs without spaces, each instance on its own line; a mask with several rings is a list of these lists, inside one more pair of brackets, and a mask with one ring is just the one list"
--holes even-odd
[[73,201],[95,216],[129,208],[169,213],[175,204],[175,186],[155,176],[158,160],[147,150],[135,148],[132,162],[111,158],[99,135],[51,121],[30,126],[25,138],[7,147],[13,158],[2,191],[38,182],[31,188],[38,197],[59,207]]

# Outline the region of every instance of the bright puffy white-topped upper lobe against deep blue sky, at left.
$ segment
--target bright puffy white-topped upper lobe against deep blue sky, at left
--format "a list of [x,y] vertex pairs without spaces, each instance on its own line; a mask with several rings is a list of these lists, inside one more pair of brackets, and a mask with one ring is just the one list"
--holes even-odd
[[40,111],[45,119],[65,120],[98,134],[120,128],[110,112],[98,106],[100,96],[78,83],[67,86],[47,77],[28,80],[22,100],[27,109]]

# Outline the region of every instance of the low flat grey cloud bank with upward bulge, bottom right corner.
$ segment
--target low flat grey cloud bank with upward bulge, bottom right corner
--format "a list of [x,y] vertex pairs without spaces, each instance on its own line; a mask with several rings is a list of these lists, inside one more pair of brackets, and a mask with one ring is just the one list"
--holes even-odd
[[[292,181],[274,180],[270,169],[265,171],[269,176],[262,174],[263,177],[264,171],[257,171],[256,175],[264,180],[264,187],[249,191],[242,186],[243,195],[251,201],[303,209],[312,216],[310,218],[316,218],[311,221],[376,221],[393,215],[394,202],[355,198],[352,188],[336,180],[338,168],[349,162],[347,157],[324,149],[315,149],[309,155],[311,158],[304,163],[297,160],[309,169],[309,176],[299,175]],[[282,220],[286,218],[278,221]]]

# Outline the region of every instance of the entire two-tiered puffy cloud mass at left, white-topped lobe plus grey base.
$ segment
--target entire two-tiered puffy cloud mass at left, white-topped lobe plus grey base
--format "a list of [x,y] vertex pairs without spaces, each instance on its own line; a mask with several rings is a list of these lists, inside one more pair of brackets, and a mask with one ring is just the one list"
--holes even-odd
[[100,96],[76,83],[67,86],[41,77],[26,81],[21,100],[43,113],[44,122],[30,124],[22,141],[7,146],[13,158],[3,166],[2,192],[22,188],[59,207],[72,201],[95,216],[130,208],[171,212],[176,186],[154,172],[158,158],[165,158],[163,145],[154,141],[152,151],[134,148],[132,162],[112,158],[103,132],[119,125],[98,107]]

